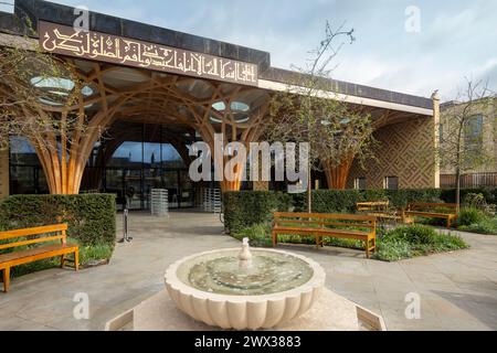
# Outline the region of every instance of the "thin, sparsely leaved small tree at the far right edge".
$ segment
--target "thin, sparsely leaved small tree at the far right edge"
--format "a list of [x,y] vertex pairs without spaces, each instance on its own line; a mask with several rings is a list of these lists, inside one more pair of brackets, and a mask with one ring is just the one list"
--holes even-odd
[[466,79],[464,92],[441,114],[438,157],[442,168],[455,171],[457,208],[461,206],[462,175],[495,159],[491,149],[497,142],[496,133],[493,133],[494,139],[486,139],[484,130],[497,132],[497,117],[495,111],[486,121],[483,117],[491,106],[495,107],[496,101],[488,85]]

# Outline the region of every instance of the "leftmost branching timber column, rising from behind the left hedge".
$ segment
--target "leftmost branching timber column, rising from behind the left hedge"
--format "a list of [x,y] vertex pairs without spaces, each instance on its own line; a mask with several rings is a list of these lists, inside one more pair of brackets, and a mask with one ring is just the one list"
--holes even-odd
[[[125,105],[142,93],[175,84],[173,81],[158,83],[151,79],[146,84],[116,89],[104,82],[104,74],[112,69],[114,67],[104,68],[102,64],[95,63],[94,68],[87,74],[76,72],[84,85],[92,84],[98,88],[96,96],[85,98],[78,89],[78,101],[72,106],[46,106],[34,114],[24,111],[25,116],[38,115],[46,121],[60,116],[59,137],[50,129],[30,137],[52,194],[77,194],[80,192],[85,167],[95,143],[120,115]],[[99,105],[99,110],[87,116],[85,107],[96,104]],[[70,120],[71,124],[65,124]]]

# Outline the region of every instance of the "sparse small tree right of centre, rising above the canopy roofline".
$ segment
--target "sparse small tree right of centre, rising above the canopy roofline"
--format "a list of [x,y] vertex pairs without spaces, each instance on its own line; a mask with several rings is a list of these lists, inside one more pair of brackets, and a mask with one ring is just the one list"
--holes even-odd
[[369,114],[338,97],[331,81],[334,58],[345,43],[355,41],[353,30],[343,24],[332,30],[326,23],[326,38],[311,51],[305,67],[294,67],[298,73],[286,90],[275,93],[269,105],[266,138],[282,142],[308,142],[309,179],[308,211],[311,212],[311,170],[324,168],[328,186],[346,189],[347,176],[355,159],[362,162],[370,157],[368,147],[373,141]]

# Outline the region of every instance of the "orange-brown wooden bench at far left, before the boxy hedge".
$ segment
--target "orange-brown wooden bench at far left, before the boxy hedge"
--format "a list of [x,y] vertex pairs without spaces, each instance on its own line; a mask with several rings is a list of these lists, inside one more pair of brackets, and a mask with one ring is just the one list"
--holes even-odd
[[[67,225],[57,224],[35,228],[0,232],[0,250],[12,249],[11,253],[0,255],[0,271],[3,270],[3,291],[9,291],[10,269],[14,266],[33,263],[36,260],[61,257],[61,267],[70,261],[66,255],[74,254],[74,267],[80,266],[80,248],[67,243]],[[25,250],[15,250],[17,247],[39,245],[43,243],[61,242],[35,246]]]

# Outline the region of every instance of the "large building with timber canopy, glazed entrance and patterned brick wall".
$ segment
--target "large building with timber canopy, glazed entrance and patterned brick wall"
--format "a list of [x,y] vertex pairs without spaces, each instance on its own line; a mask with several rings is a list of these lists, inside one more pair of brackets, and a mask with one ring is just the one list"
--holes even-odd
[[[272,67],[266,52],[101,13],[91,12],[89,33],[80,33],[73,29],[74,9],[46,1],[17,0],[14,14],[0,13],[0,45],[24,38],[28,30],[20,19],[25,18],[36,25],[27,41],[73,61],[82,79],[89,82],[83,107],[91,119],[99,119],[99,128],[108,131],[105,140],[89,136],[83,141],[84,165],[75,176],[81,188],[76,182],[71,192],[113,192],[123,200],[131,190],[137,208],[148,207],[152,188],[169,189],[175,197],[171,201],[190,206],[195,192],[205,184],[189,180],[187,147],[198,140],[212,142],[213,133],[223,133],[228,141],[257,141],[271,94],[286,90],[298,75]],[[133,55],[125,57],[123,52],[128,49],[124,47],[89,52],[81,35],[103,46],[129,42],[134,50],[141,50],[152,45],[178,57],[202,57],[243,71],[221,77],[216,72],[188,72],[184,65],[169,67],[166,57],[156,56],[146,65],[138,58],[131,61]],[[68,42],[73,44],[66,45]],[[123,57],[118,60],[119,55]],[[334,97],[371,115],[379,142],[374,159],[364,168],[358,163],[352,168],[349,188],[438,186],[433,152],[437,143],[437,99],[346,82],[329,84],[335,87]],[[0,196],[8,191],[54,192],[56,175],[47,178],[51,172],[40,163],[29,141],[15,137],[9,153],[0,154]],[[319,188],[328,188],[322,174],[314,176],[320,181]],[[277,188],[240,181],[219,186],[224,191]]]

